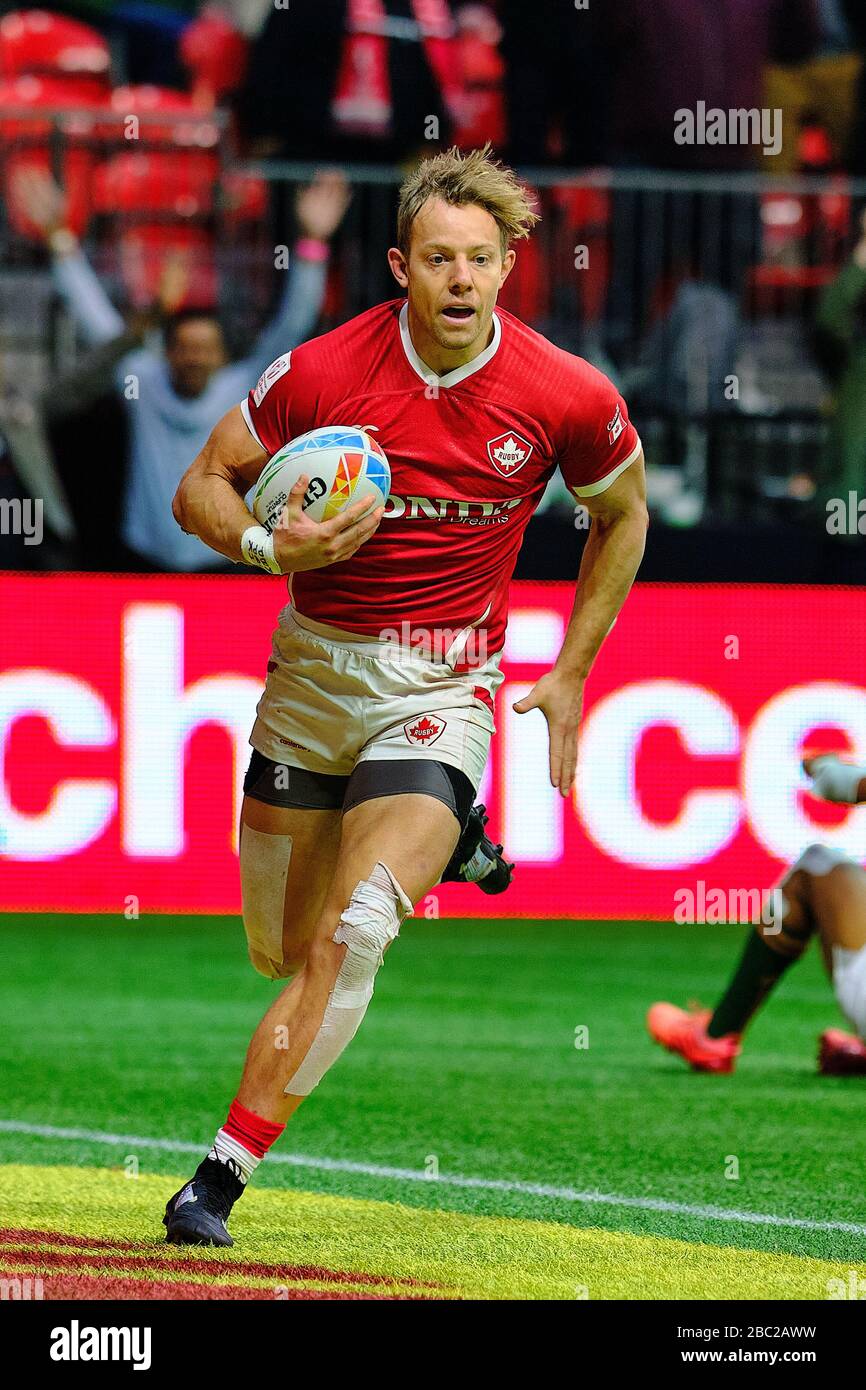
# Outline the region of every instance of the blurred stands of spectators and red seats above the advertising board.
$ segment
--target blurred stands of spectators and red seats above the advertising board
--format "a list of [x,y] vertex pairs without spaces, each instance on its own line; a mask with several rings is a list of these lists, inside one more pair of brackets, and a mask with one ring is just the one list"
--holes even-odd
[[[734,563],[744,523],[798,545],[817,531],[799,577],[859,577],[862,535],[828,538],[823,517],[866,473],[865,50],[858,0],[7,14],[0,499],[39,496],[46,539],[4,527],[0,566],[210,567],[168,510],[210,425],[270,357],[392,292],[384,257],[364,259],[400,170],[491,140],[545,214],[502,302],[627,393],[670,524],[649,577],[688,571],[670,545],[696,525],[720,527]],[[674,139],[676,113],[701,104],[781,111],[784,138]],[[749,171],[780,192],[738,183]],[[819,190],[792,193],[799,174]],[[534,549],[531,528],[524,573],[555,577],[545,556],[574,503],[552,484],[544,510],[556,543]]]

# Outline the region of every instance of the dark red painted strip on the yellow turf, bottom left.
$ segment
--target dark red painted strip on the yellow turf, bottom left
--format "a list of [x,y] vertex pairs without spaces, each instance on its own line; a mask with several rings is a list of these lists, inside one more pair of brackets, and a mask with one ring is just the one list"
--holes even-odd
[[[32,1240],[38,1240],[54,1244],[53,1234],[50,1232],[29,1232],[31,1240],[22,1240],[24,1232],[17,1234],[17,1238],[7,1241],[3,1237],[8,1236],[8,1232],[0,1232],[0,1241],[3,1241],[3,1258],[11,1261],[13,1264],[44,1264],[44,1265],[63,1265],[64,1268],[75,1268],[78,1265],[93,1265],[100,1264],[115,1269],[178,1269],[179,1258],[172,1258],[170,1255],[153,1254],[146,1255],[140,1252],[133,1252],[133,1250],[126,1245],[124,1247],[124,1254],[86,1254],[85,1251],[76,1252],[70,1251],[51,1251],[40,1250],[33,1245]],[[71,1244],[71,1237],[67,1236],[67,1244]],[[19,1248],[15,1250],[14,1245]],[[96,1251],[99,1247],[88,1237],[85,1250]],[[375,1287],[377,1284],[388,1284],[393,1287],[395,1284],[403,1289],[441,1289],[441,1284],[434,1284],[417,1279],[407,1277],[391,1277],[389,1275],[370,1275],[364,1272],[353,1272],[348,1269],[325,1269],[318,1265],[268,1265],[263,1261],[221,1261],[221,1259],[199,1259],[196,1257],[195,1268],[203,1275],[222,1275],[247,1279],[293,1279],[293,1280],[310,1280],[317,1279],[321,1283],[338,1283],[338,1284],[370,1284]]]

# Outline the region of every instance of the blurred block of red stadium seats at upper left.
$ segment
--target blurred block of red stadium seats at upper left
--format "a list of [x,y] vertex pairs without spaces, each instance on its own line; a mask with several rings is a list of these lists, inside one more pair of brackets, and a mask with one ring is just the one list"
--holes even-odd
[[[186,302],[217,297],[214,217],[261,220],[267,189],[232,175],[218,195],[221,125],[215,99],[242,72],[246,53],[229,25],[190,25],[183,57],[195,95],[154,85],[111,89],[110,53],[88,25],[43,11],[0,21],[0,186],[8,231],[39,239],[18,193],[22,171],[58,179],[67,222],[99,231],[117,249],[133,304],[147,303],[168,254],[190,264]],[[97,215],[101,222],[93,225]]]

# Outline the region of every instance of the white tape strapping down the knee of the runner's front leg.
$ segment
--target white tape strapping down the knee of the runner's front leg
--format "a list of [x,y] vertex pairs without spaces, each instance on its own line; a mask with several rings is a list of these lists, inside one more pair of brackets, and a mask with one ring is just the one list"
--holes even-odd
[[368,878],[356,884],[341,915],[334,941],[346,947],[321,1027],[303,1062],[286,1083],[286,1095],[309,1095],[357,1033],[385,951],[411,902],[386,865],[377,863]]

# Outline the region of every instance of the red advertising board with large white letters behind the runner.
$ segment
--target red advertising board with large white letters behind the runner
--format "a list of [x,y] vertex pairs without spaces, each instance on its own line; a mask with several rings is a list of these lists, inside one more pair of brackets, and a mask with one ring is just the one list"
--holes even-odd
[[[866,760],[858,589],[638,584],[587,687],[580,776],[512,705],[553,662],[566,584],[514,584],[480,799],[517,863],[442,916],[655,917],[683,888],[769,887],[815,840],[862,856],[802,749]],[[0,909],[238,912],[236,821],[279,580],[0,578]]]

